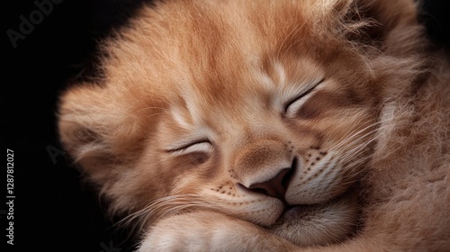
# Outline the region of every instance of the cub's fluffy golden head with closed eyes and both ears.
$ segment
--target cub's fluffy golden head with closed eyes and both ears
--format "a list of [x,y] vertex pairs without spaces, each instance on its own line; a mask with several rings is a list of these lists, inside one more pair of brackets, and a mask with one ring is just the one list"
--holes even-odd
[[[410,3],[411,2],[411,3]],[[299,245],[347,237],[383,103],[411,82],[412,1],[166,1],[104,41],[59,133],[148,226],[220,211]],[[406,69],[406,70],[405,70]]]

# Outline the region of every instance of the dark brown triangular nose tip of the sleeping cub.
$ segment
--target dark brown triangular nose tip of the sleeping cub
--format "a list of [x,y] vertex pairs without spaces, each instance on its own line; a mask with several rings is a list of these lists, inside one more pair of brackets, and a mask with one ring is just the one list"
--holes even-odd
[[250,184],[248,189],[250,189],[250,191],[263,193],[284,201],[284,193],[286,193],[287,184],[289,183],[291,175],[292,173],[290,167],[283,168],[277,175],[267,181]]

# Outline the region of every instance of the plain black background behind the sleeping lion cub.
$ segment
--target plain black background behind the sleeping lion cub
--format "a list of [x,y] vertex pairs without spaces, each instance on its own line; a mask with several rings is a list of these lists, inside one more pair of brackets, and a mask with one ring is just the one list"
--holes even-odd
[[[68,165],[58,143],[55,112],[59,92],[67,80],[83,72],[95,42],[111,27],[126,24],[141,2],[63,0],[52,4],[51,12],[43,14],[25,38],[16,40],[15,47],[7,31],[20,32],[20,16],[30,20],[39,8],[34,1],[1,4],[1,129],[4,149],[14,150],[15,196],[14,246],[6,244],[9,209],[3,193],[0,200],[0,247],[6,247],[2,251],[131,251],[133,241],[126,232],[111,228],[112,221],[103,217],[103,203]],[[430,37],[449,45],[448,1],[426,0],[424,11],[422,20]],[[5,166],[4,156],[2,192],[6,191]]]

